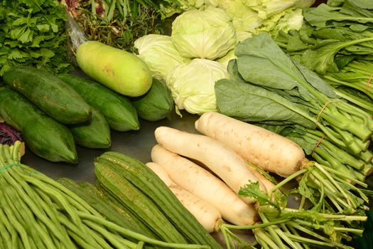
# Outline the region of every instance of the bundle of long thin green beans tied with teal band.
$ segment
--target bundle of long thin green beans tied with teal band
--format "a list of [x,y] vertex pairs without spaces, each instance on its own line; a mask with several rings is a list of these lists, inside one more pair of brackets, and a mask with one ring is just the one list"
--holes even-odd
[[21,164],[20,146],[0,144],[0,248],[210,248],[165,243],[107,221],[57,181]]

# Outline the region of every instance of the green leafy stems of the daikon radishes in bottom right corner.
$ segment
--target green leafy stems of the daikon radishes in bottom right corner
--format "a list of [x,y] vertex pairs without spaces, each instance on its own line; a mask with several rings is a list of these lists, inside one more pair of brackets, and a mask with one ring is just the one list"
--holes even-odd
[[[344,245],[344,240],[363,234],[361,221],[367,221],[363,208],[367,196],[353,194],[351,189],[357,192],[360,189],[341,180],[340,176],[342,173],[329,171],[310,161],[305,169],[283,179],[270,194],[260,191],[258,184],[247,184],[240,189],[239,195],[256,199],[261,223],[252,226],[224,224],[223,227],[253,229],[256,240],[264,248],[350,248]],[[298,207],[290,208],[281,198],[284,195],[279,189],[293,179],[298,179],[299,185],[291,192],[301,194],[301,201],[296,205]],[[331,206],[330,203],[335,204],[338,198],[349,204],[344,208]],[[306,208],[306,202],[313,206]],[[360,206],[358,210],[354,208],[356,205]]]

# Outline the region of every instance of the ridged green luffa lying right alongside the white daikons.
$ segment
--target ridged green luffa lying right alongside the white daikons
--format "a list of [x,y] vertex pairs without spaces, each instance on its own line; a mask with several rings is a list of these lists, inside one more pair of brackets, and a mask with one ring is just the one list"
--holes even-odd
[[96,159],[94,164],[110,166],[117,179],[126,179],[139,191],[146,194],[189,243],[210,245],[212,249],[222,248],[180,203],[175,194],[168,189],[168,186],[141,161],[119,152],[105,152]]

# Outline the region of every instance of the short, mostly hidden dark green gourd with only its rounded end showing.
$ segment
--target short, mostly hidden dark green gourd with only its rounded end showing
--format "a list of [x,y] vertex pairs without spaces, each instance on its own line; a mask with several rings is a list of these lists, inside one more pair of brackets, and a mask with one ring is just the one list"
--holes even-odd
[[92,149],[109,148],[112,144],[109,124],[107,124],[101,112],[94,107],[91,109],[92,117],[90,120],[82,124],[72,124],[69,126],[75,143]]

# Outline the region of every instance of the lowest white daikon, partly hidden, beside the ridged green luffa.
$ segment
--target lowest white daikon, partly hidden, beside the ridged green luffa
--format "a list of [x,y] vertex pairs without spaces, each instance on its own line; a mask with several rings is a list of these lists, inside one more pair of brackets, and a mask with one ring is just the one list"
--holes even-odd
[[170,179],[167,172],[155,162],[148,162],[146,163],[146,166],[159,176],[159,178],[168,186],[168,189],[175,194],[180,203],[182,203],[183,206],[193,214],[208,233],[219,231],[220,224],[223,221],[220,212],[215,208],[215,206],[212,206],[212,204],[207,203],[207,201],[202,200],[198,196],[195,196],[175,184]]

